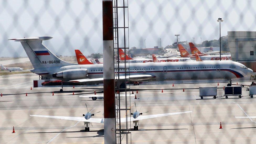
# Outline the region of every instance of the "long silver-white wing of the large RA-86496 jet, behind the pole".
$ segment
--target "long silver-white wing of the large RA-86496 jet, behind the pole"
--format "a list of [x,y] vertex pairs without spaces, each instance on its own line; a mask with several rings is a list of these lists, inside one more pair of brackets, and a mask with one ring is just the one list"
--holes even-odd
[[[135,74],[135,75],[130,75],[126,76],[127,80],[130,81],[146,81],[155,76],[150,75],[150,74]],[[119,76],[119,79],[125,79],[125,76]],[[70,82],[77,82],[77,83],[103,83],[103,78],[86,78],[86,79],[76,79],[72,80]]]

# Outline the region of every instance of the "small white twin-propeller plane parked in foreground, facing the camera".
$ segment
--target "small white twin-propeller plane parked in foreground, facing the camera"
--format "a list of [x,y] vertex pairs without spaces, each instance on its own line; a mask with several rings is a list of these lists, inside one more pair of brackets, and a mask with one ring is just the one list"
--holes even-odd
[[[87,108],[87,106],[86,106]],[[136,108],[136,103],[135,103],[135,108]],[[88,109],[87,109],[88,111]],[[92,111],[92,110],[91,110]],[[96,123],[104,123],[104,118],[92,118],[92,116],[94,116],[94,114],[91,114],[88,111],[88,113],[83,114],[83,117],[73,117],[73,116],[50,116],[50,115],[30,115],[30,116],[36,116],[36,117],[43,117],[43,118],[54,118],[54,119],[63,119],[63,120],[74,120],[74,121],[83,121],[84,125],[86,125],[85,130],[86,131],[90,131],[90,127],[88,127],[89,124],[91,124],[92,122],[96,122]],[[138,122],[139,120],[145,120],[145,119],[151,119],[151,118],[158,118],[158,117],[162,117],[162,116],[168,116],[168,115],[177,115],[177,114],[184,114],[184,113],[191,113],[193,111],[184,111],[184,112],[177,112],[177,113],[166,113],[166,114],[154,114],[154,115],[143,115],[141,116],[143,113],[140,113],[139,111],[136,111],[134,113],[131,113],[132,117],[128,117],[127,118],[127,122],[132,121],[135,125],[134,125],[134,130],[138,130]],[[99,112],[97,112],[99,113]],[[147,112],[145,112],[147,113]],[[126,122],[126,118],[121,118],[121,122]]]

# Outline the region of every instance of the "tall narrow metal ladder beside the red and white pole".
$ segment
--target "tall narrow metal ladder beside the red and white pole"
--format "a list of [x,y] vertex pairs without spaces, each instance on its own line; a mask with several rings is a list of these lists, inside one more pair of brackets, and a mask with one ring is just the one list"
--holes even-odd
[[[126,79],[130,75],[129,62],[124,61],[124,67],[120,67],[119,49],[122,49],[126,54],[126,49],[129,51],[129,29],[128,29],[128,0],[113,0],[113,31],[114,31],[114,76],[115,76],[115,100],[116,100],[116,143],[131,143],[131,122],[127,122],[128,116],[130,117],[130,83],[129,79]],[[122,12],[122,15],[118,17],[118,12]],[[127,17],[125,16],[127,14]],[[118,18],[121,18],[123,22],[118,24]],[[121,26],[120,26],[121,25]],[[120,33],[122,32],[122,33]],[[124,39],[121,39],[121,38]],[[128,44],[127,44],[128,42]],[[120,44],[122,43],[122,44]],[[122,45],[122,46],[120,46]],[[128,52],[129,53],[129,52]],[[128,54],[129,55],[129,54]],[[125,79],[120,79],[120,76],[124,76]],[[120,99],[120,92],[125,92],[125,97]],[[121,106],[122,105],[122,106]],[[121,125],[121,118],[125,115],[126,122]]]

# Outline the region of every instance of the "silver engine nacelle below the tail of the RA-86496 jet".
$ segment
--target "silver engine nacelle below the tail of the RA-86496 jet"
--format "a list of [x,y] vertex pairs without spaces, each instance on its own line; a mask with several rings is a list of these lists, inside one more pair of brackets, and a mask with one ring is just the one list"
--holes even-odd
[[86,68],[77,68],[71,70],[65,70],[52,74],[54,78],[63,78],[63,79],[84,79],[88,76]]

